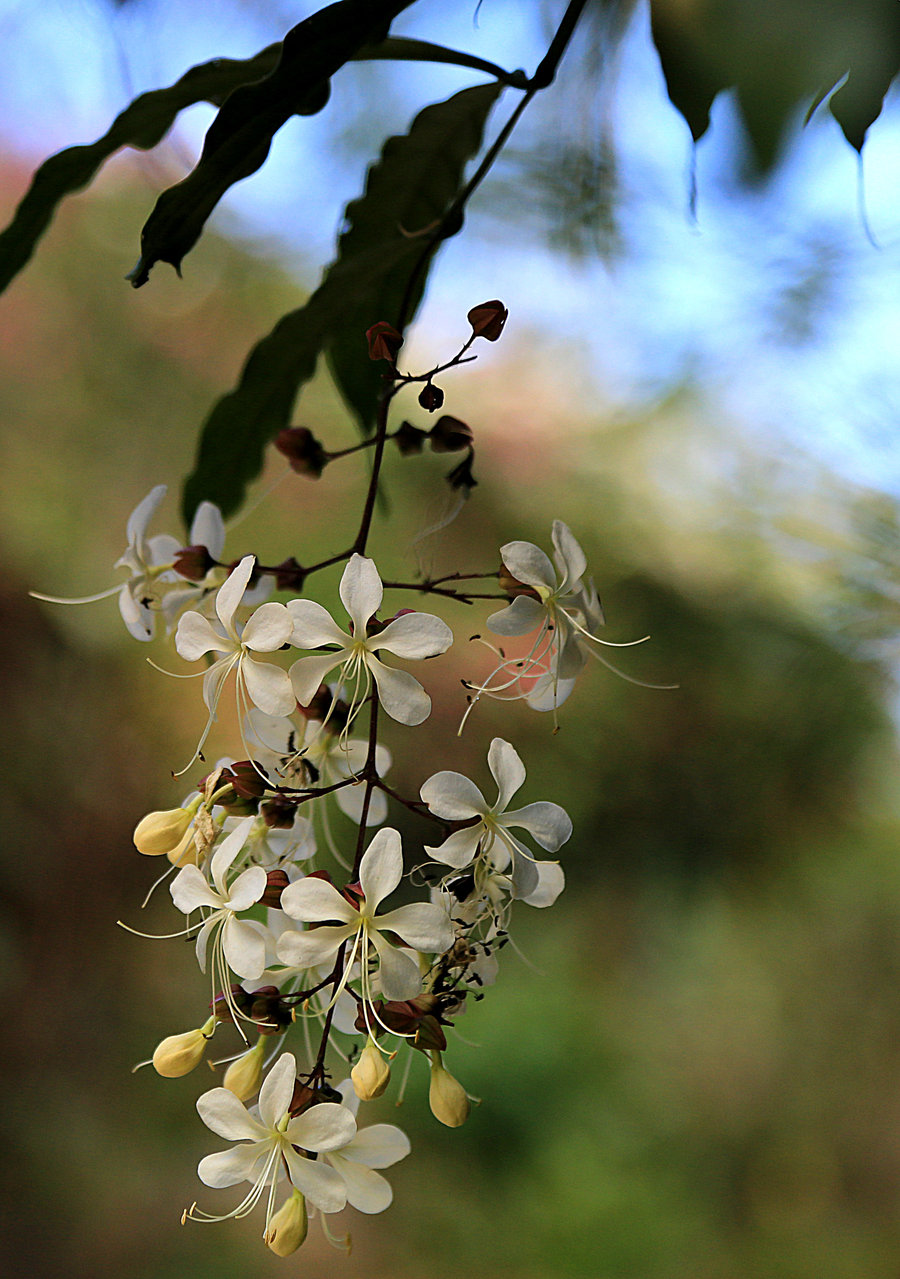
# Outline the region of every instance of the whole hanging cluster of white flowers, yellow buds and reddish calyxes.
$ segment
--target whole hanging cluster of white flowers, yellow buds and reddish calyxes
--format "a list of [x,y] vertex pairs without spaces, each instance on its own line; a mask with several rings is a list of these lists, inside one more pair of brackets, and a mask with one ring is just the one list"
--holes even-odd
[[[444,398],[433,377],[459,363],[476,338],[496,340],[505,318],[499,302],[473,308],[462,350],[424,375],[399,371],[395,330],[369,330],[372,358],[391,367],[378,450],[403,436],[410,451],[418,430],[404,423],[389,435],[396,393],[422,382],[419,404],[433,411]],[[472,431],[455,418],[441,418],[438,427],[430,432],[432,448],[464,448],[470,475]],[[311,432],[295,430],[308,453]],[[314,473],[340,455],[317,445]],[[481,999],[496,980],[514,904],[546,908],[564,886],[555,857],[571,822],[546,799],[513,807],[525,767],[510,742],[495,737],[487,751],[492,802],[460,773],[433,770],[440,741],[422,730],[431,697],[418,675],[396,663],[438,657],[453,632],[428,611],[384,615],[386,592],[467,605],[500,601],[504,608],[487,616],[488,631],[532,636],[524,657],[497,650],[493,671],[468,682],[467,716],[483,696],[556,710],[587,657],[601,656],[598,646],[607,643],[597,634],[603,616],[584,554],[559,521],[554,563],[516,541],[501,547],[499,572],[382,582],[366,554],[381,451],[375,458],[363,523],[344,554],[307,568],[293,558],[261,564],[252,554],[225,561],[225,527],[208,503],[197,512],[189,545],[148,537],[165,495],[160,486],[128,522],[118,565],[125,581],[91,597],[118,593],[129,632],[142,641],[153,637],[161,618],[175,654],[205,663],[197,674],[206,724],[182,773],[203,760],[222,698],[237,702],[237,757],[207,767],[176,808],[143,817],[134,844],[170,863],[164,879],[170,876],[173,906],[184,916],[171,935],[194,940],[210,981],[201,1024],[164,1039],[152,1065],[162,1077],[188,1074],[210,1054],[213,1037],[216,1048],[231,1037],[226,1055],[211,1063],[226,1065],[221,1086],[205,1092],[197,1110],[234,1145],[202,1159],[198,1175],[211,1189],[249,1188],[228,1211],[193,1204],[184,1220],[243,1218],[262,1205],[265,1242],[280,1256],[303,1243],[311,1215],[338,1241],[327,1224],[332,1214],[348,1205],[362,1212],[390,1205],[381,1170],[405,1157],[409,1142],[392,1124],[361,1124],[359,1110],[391,1086],[399,1054],[405,1068],[418,1060],[428,1071],[435,1118],[446,1127],[465,1122],[470,1099],[445,1064],[449,1035],[467,1001]],[[345,619],[300,593],[313,573],[340,563]],[[472,591],[463,583],[473,578],[495,587]],[[270,600],[272,590],[283,599]],[[418,793],[404,796],[385,780],[392,760],[381,741],[384,716],[396,732],[422,733],[418,756],[430,766],[421,767]],[[405,852],[400,831],[387,824],[404,808],[431,831]],[[345,1077],[335,1081],[335,1072]]]

